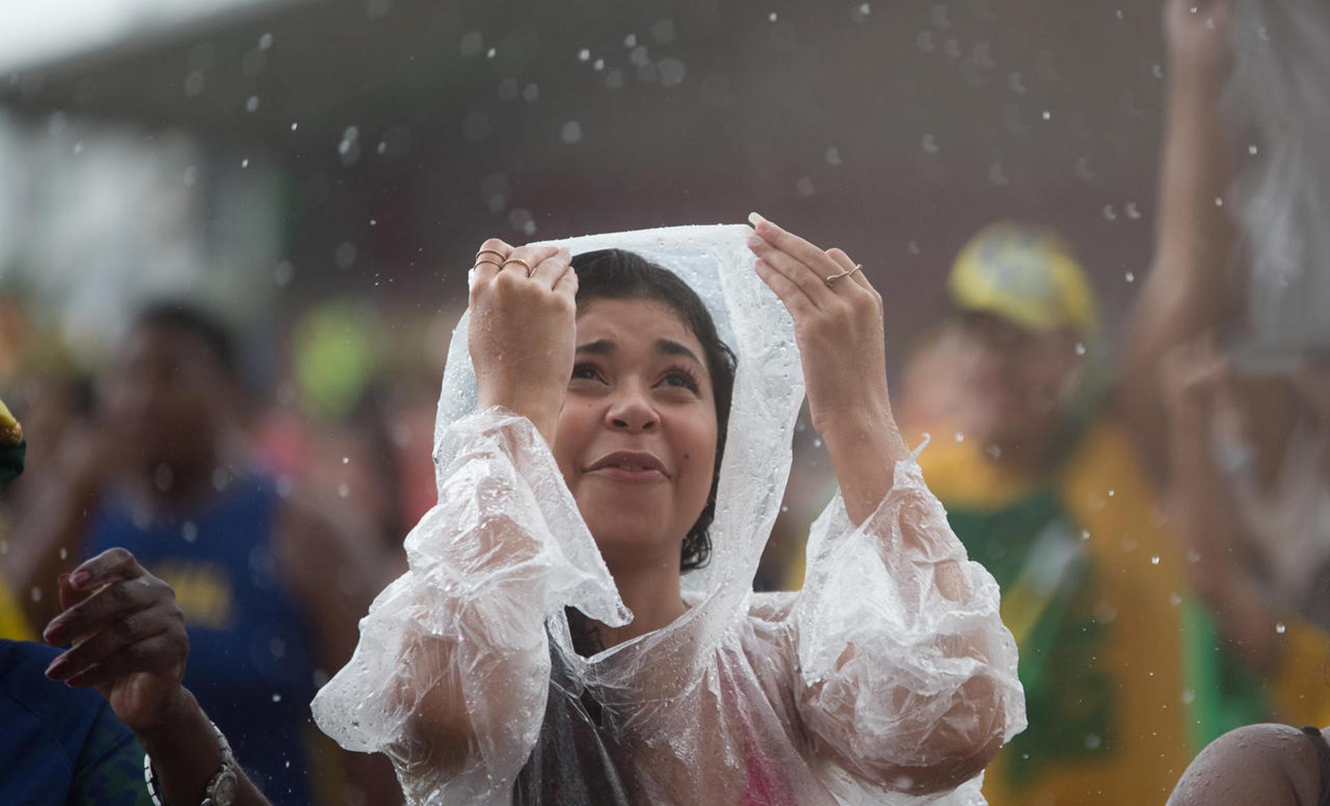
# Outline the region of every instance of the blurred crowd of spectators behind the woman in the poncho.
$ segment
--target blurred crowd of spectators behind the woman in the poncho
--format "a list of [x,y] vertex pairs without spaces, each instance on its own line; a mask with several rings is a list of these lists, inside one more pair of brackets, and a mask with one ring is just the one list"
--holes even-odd
[[[1244,348],[1242,250],[1214,202],[1233,180],[1226,57],[1213,27],[1168,25],[1157,242],[1128,327],[1101,323],[1095,255],[994,210],[939,266],[950,309],[892,346],[896,419],[1020,648],[1029,729],[987,773],[998,805],[1162,802],[1234,728],[1330,725],[1330,359]],[[28,444],[0,493],[0,637],[36,638],[60,573],[129,548],[174,589],[185,684],[274,803],[392,802],[391,769],[321,738],[309,702],[434,504],[459,314],[310,303],[258,383],[188,301],[145,307],[86,368],[0,299]],[[795,448],[759,589],[799,585],[834,492],[809,427]]]

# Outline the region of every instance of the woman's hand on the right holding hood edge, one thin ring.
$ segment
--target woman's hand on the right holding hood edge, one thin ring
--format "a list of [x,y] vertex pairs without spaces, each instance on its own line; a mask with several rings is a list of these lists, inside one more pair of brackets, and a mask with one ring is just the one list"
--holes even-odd
[[813,427],[831,439],[890,419],[882,297],[839,249],[822,250],[755,213],[750,221],[757,274],[794,317]]

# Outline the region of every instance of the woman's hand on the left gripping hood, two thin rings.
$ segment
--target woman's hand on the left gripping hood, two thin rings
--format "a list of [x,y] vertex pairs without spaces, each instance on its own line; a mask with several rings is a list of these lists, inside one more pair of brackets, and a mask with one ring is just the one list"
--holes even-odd
[[576,347],[577,275],[571,263],[563,249],[515,249],[491,238],[471,271],[467,346],[480,408],[503,406],[528,418],[551,444]]

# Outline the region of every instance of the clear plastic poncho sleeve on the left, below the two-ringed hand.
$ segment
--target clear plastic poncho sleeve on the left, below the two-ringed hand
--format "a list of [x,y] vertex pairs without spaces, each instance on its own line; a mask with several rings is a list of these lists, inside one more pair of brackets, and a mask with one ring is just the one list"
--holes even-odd
[[314,718],[348,750],[392,758],[411,803],[507,803],[549,685],[545,620],[629,613],[531,422],[491,408],[439,440],[439,503],[408,571],[360,621]]

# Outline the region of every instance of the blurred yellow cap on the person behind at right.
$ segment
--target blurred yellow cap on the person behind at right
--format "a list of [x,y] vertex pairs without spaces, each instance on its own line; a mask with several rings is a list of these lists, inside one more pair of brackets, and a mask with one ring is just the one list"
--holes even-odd
[[956,255],[947,285],[962,310],[996,314],[1027,330],[1068,327],[1091,336],[1099,329],[1085,270],[1044,227],[1011,221],[984,227]]

